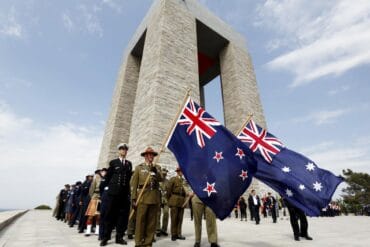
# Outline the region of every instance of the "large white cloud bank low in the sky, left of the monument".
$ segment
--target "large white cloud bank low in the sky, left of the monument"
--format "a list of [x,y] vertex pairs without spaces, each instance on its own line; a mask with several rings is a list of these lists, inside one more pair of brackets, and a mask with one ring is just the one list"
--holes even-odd
[[43,126],[0,104],[0,205],[54,206],[65,183],[83,180],[96,167],[103,126]]

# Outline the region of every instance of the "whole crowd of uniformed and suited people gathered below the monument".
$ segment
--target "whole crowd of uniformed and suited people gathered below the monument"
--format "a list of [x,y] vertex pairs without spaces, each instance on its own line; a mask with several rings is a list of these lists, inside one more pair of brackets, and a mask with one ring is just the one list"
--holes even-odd
[[[167,178],[168,170],[154,163],[158,155],[148,147],[141,156],[144,162],[133,169],[126,159],[128,145],[117,146],[118,158],[110,161],[107,168],[98,169],[94,175],[87,175],[83,182],[66,184],[58,193],[53,216],[66,222],[69,227],[77,226],[85,236],[97,235],[100,246],[106,246],[115,230],[115,242],[126,245],[124,236],[135,241],[135,246],[152,246],[156,237],[171,235],[172,241],[185,240],[182,235],[184,208],[189,207],[194,221],[195,243],[200,247],[202,221],[205,219],[208,242],[219,247],[216,216],[187,186],[181,169],[176,176]],[[271,216],[276,223],[279,209],[290,213],[294,239],[312,238],[307,233],[305,214],[282,198],[276,199],[271,193],[260,197],[252,190],[248,199],[241,197],[235,206],[235,216],[260,224],[263,217]],[[300,226],[298,224],[300,221]],[[170,232],[168,225],[170,223]]]

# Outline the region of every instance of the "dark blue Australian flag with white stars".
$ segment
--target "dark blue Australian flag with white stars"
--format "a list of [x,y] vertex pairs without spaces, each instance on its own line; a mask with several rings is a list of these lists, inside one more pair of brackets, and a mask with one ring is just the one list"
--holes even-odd
[[238,139],[254,153],[258,167],[254,176],[308,216],[319,216],[343,181],[342,177],[284,147],[253,120],[247,123]]

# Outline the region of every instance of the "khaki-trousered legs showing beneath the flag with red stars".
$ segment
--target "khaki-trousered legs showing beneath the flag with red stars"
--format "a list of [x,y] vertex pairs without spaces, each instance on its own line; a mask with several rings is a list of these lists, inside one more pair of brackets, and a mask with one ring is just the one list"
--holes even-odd
[[193,196],[191,202],[193,207],[195,226],[194,247],[200,247],[200,240],[202,238],[203,213],[205,213],[206,215],[208,242],[211,244],[211,247],[219,247],[219,245],[217,244],[217,225],[215,213],[213,213],[212,209],[204,205],[204,203],[196,195]]

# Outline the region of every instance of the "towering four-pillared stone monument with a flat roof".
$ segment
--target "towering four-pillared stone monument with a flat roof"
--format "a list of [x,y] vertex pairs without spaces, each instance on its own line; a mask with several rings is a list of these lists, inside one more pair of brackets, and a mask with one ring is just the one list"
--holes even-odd
[[[235,133],[251,113],[266,127],[245,39],[197,0],[154,1],[124,52],[98,167],[120,142],[134,165],[147,146],[159,150],[187,89],[204,105],[203,87],[219,75],[226,127]],[[160,164],[177,165],[169,150]]]

